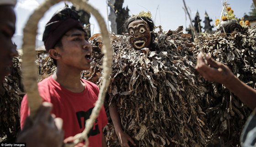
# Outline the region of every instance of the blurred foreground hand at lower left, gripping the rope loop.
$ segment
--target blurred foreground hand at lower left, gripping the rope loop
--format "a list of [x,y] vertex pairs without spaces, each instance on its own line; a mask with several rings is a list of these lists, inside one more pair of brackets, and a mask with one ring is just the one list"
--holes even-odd
[[34,121],[27,117],[17,142],[26,142],[27,147],[61,147],[64,137],[63,121],[50,114],[52,107],[51,103],[43,102]]

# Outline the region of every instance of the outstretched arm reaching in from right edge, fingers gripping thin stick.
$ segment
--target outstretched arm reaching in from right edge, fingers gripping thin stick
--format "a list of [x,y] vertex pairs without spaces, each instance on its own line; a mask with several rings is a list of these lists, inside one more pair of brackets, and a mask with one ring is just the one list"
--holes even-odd
[[256,107],[256,90],[240,81],[229,69],[222,63],[216,62],[210,56],[206,55],[208,66],[202,54],[197,57],[197,71],[206,80],[215,81],[224,84],[231,92],[240,98],[251,110]]

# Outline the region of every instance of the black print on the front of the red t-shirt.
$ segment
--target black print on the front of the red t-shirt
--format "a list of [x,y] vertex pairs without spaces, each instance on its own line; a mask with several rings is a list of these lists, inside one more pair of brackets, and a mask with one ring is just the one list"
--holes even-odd
[[[87,119],[90,118],[90,115],[91,115],[91,111],[94,107],[92,107],[91,109],[89,109],[88,111],[80,111],[80,112],[76,112],[76,117],[77,117],[77,120],[78,120],[78,123],[79,123],[79,127],[82,128],[82,120],[81,118],[83,117],[84,119],[84,124],[85,124],[85,121]],[[88,134],[88,137],[89,136],[95,136],[97,134],[100,134],[100,130],[99,130],[99,126],[98,126],[98,118],[96,118],[95,120],[95,123],[93,125],[93,127],[91,128],[89,134]]]

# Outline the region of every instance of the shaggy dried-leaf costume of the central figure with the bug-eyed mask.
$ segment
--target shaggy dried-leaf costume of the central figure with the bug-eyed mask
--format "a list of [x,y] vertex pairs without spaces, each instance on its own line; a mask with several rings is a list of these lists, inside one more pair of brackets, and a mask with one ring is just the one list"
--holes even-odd
[[[107,104],[117,104],[123,130],[139,147],[206,146],[206,114],[199,105],[205,88],[195,75],[193,45],[182,30],[152,32],[150,49],[134,49],[128,34],[110,36],[114,58]],[[94,60],[84,77],[100,86],[100,36],[91,43]],[[106,130],[108,144],[118,146],[113,124]]]

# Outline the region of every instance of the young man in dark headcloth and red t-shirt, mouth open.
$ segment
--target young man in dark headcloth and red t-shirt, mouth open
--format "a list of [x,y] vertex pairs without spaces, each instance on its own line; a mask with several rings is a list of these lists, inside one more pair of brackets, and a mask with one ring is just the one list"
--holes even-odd
[[[57,11],[45,27],[43,41],[49,56],[57,66],[52,76],[38,83],[43,101],[53,103],[52,113],[63,119],[64,137],[72,137],[85,129],[85,121],[98,98],[99,88],[80,78],[91,67],[91,44],[83,30],[79,15],[69,8]],[[27,97],[21,104],[21,127],[28,115]],[[105,147],[102,128],[107,125],[101,108],[89,136],[90,147]]]

